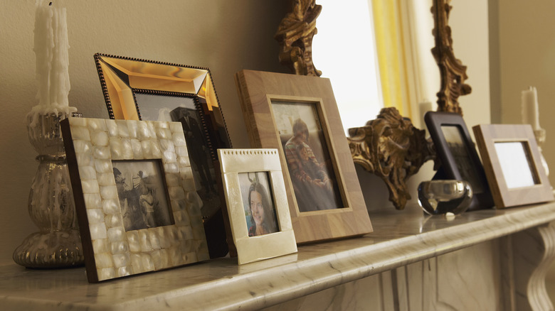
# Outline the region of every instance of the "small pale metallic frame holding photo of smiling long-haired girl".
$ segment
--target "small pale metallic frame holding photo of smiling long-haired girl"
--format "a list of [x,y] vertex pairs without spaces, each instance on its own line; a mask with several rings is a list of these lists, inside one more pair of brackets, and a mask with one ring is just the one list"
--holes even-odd
[[297,252],[277,149],[219,149],[238,263]]

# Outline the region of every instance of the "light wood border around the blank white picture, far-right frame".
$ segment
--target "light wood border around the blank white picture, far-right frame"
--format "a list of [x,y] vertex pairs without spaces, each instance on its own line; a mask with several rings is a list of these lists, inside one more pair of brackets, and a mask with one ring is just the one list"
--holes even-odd
[[[541,165],[541,155],[532,126],[529,124],[480,124],[472,129],[497,208],[554,200],[553,189],[549,184],[544,167]],[[511,188],[507,186],[502,166],[499,163],[499,154],[495,148],[495,143],[507,142],[523,143],[530,173],[536,179],[534,185]]]

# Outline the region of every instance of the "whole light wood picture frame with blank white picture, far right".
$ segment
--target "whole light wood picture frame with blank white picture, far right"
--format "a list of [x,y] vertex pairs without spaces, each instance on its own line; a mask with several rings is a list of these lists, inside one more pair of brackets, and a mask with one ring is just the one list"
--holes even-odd
[[497,208],[554,200],[529,124],[480,124],[472,128]]

